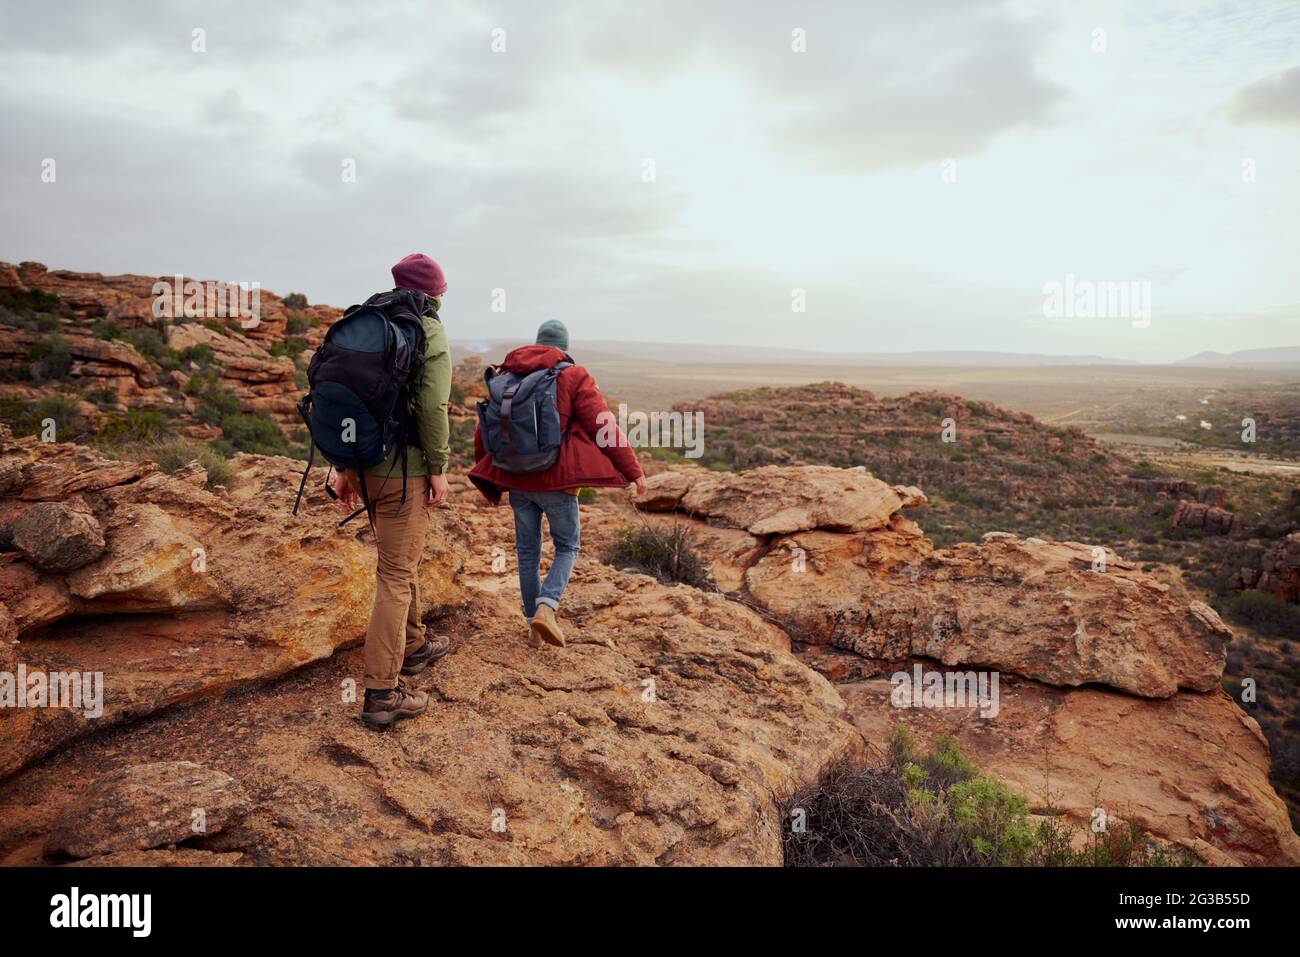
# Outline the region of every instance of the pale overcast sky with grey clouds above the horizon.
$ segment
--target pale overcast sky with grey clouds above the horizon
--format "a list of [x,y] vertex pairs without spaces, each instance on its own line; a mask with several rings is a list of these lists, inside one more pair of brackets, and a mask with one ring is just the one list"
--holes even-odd
[[347,306],[419,251],[460,341],[1300,345],[1294,0],[5,0],[0,74],[5,261]]

